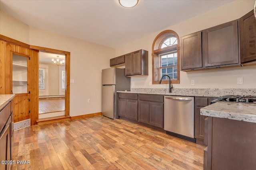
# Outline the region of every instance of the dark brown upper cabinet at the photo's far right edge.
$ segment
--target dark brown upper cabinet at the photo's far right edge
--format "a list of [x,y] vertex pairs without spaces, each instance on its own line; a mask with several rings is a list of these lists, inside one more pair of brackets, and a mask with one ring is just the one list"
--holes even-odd
[[256,61],[256,20],[253,10],[240,18],[241,63]]

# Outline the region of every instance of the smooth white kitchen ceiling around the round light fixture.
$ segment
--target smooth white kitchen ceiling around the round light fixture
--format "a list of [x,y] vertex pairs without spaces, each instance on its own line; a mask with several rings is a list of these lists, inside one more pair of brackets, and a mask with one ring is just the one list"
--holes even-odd
[[118,48],[234,0],[0,0],[0,10],[27,25]]

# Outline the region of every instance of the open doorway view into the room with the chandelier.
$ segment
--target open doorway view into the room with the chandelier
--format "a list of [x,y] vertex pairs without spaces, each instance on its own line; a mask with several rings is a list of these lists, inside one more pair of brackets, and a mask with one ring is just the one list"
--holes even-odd
[[65,57],[39,51],[39,119],[65,115]]

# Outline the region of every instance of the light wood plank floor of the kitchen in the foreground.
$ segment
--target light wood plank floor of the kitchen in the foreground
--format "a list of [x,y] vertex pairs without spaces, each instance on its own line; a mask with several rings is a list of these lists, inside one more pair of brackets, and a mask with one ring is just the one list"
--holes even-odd
[[201,145],[122,119],[87,117],[14,132],[14,170],[203,169]]

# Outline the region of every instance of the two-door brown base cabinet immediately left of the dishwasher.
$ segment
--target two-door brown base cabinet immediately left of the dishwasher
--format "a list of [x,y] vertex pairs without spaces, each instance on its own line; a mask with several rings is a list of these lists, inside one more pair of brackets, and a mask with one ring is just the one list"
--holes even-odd
[[155,94],[138,95],[138,121],[163,128],[164,96]]

